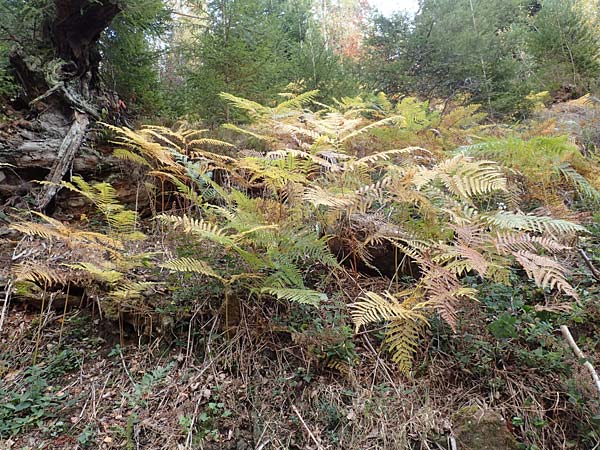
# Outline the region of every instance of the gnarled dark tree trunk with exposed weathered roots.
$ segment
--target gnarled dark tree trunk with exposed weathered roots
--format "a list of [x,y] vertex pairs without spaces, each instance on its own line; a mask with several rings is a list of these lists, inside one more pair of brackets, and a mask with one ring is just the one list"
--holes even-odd
[[[100,90],[97,42],[120,10],[117,0],[54,0],[41,50],[11,52],[21,95],[12,111],[19,118],[0,125],[0,164],[14,166],[0,171],[0,205],[30,193],[30,180],[56,183],[70,170],[98,170],[101,155],[85,147],[88,125],[115,105]],[[37,207],[45,209],[57,191],[43,185]]]

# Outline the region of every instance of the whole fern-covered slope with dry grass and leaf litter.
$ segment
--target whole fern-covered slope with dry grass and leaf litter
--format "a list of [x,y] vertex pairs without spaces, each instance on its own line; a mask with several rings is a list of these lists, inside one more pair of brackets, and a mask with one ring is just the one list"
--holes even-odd
[[598,440],[556,332],[596,354],[594,155],[473,106],[316,96],[108,127],[135,204],[73,177],[85,214],[7,217],[3,444],[460,448],[470,420],[499,448]]

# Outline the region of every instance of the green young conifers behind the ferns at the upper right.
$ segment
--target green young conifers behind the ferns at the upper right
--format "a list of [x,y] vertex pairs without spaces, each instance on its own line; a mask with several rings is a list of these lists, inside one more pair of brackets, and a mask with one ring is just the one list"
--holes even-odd
[[413,19],[373,19],[361,75],[388,94],[466,97],[492,116],[523,117],[532,92],[579,96],[597,88],[600,41],[582,5],[426,0]]

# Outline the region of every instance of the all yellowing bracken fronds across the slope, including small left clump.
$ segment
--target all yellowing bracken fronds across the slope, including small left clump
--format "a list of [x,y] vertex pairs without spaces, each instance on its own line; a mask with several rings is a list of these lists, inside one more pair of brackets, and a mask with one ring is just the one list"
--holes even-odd
[[[523,180],[562,177],[582,199],[598,198],[590,169],[582,170],[562,138],[511,141],[511,151],[523,161],[519,166],[497,141],[466,146],[485,132],[473,106],[442,115],[415,99],[392,105],[383,95],[334,106],[315,102],[315,91],[285,97],[267,107],[223,94],[247,119],[220,131],[234,143],[185,126],[111,127],[115,156],[143,173],[160,225],[204,245],[200,254],[162,261],[162,270],[215,280],[226,314],[240,290],[249,298],[318,308],[326,293],[337,294],[326,282],[315,282],[315,271],[385,273],[389,288],[363,290],[349,305],[350,316],[356,330],[387,325],[385,347],[406,373],[430,320],[438,316],[456,330],[461,309],[477,302],[466,275],[509,283],[511,270],[520,267],[541,290],[577,299],[565,256],[585,228],[564,214],[552,217],[556,205],[523,212],[540,206],[541,197],[519,197]],[[540,146],[562,146],[547,156],[553,161],[548,180],[539,178],[543,167],[534,164]],[[75,236],[107,255],[139,237],[135,216],[115,205],[108,186],[75,179],[65,187],[98,207],[107,234],[82,235],[46,217],[45,225],[14,227],[48,239]],[[235,264],[219,266],[215,255]],[[113,295],[140,292],[124,281],[127,270],[113,256],[110,264],[79,261],[69,267],[103,278]],[[390,264],[391,272],[384,267]],[[23,279],[53,281],[50,272],[19,270]]]

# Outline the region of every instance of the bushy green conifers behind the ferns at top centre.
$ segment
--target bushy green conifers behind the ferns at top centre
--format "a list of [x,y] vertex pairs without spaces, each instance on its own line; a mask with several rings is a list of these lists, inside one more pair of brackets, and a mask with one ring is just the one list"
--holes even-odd
[[[342,58],[326,46],[311,8],[313,2],[224,0],[207,2],[202,24],[180,32],[187,60],[175,67],[173,86],[180,114],[211,124],[243,120],[219,98],[231,92],[261,103],[300,89],[321,98],[357,89]],[[185,25],[185,24],[184,24]]]

